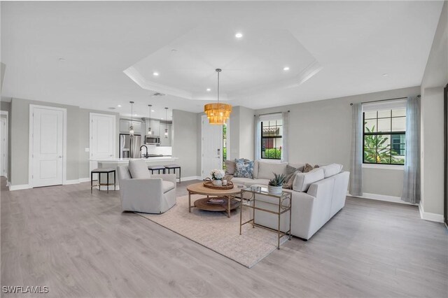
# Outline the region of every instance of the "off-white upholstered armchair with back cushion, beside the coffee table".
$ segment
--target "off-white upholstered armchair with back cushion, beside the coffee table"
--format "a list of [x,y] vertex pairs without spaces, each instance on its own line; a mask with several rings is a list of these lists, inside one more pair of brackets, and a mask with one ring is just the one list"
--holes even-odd
[[176,205],[176,175],[149,173],[144,160],[118,166],[123,211],[164,213]]

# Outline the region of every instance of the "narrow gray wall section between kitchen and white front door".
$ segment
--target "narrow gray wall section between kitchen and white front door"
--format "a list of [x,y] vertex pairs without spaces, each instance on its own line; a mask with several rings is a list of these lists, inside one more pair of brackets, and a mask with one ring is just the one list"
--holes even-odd
[[197,176],[197,113],[173,110],[172,155],[179,157],[176,164],[182,167],[182,177]]

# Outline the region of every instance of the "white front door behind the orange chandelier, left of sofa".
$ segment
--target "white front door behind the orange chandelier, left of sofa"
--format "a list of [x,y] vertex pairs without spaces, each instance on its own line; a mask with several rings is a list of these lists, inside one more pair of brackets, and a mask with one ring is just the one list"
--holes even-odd
[[223,126],[211,125],[202,115],[202,178],[210,177],[213,169],[223,169]]

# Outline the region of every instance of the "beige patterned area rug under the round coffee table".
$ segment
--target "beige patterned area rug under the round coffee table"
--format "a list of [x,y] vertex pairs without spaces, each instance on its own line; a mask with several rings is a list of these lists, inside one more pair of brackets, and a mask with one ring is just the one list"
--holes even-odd
[[[200,195],[192,196],[192,205]],[[216,253],[251,268],[276,250],[277,234],[260,227],[243,226],[239,235],[239,208],[227,217],[223,212],[192,208],[188,213],[188,196],[178,197],[177,204],[163,214],[137,213],[162,227],[195,241]],[[243,208],[243,222],[249,219],[249,208]],[[285,242],[287,236],[280,239]]]

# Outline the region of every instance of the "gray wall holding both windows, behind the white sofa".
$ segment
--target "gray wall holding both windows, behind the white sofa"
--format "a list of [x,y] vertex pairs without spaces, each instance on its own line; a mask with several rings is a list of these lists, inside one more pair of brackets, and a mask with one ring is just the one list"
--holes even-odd
[[[360,94],[323,101],[257,110],[255,113],[290,111],[289,161],[309,164],[336,162],[350,171],[350,103],[416,96],[420,87]],[[403,171],[363,169],[365,193],[400,197]]]

